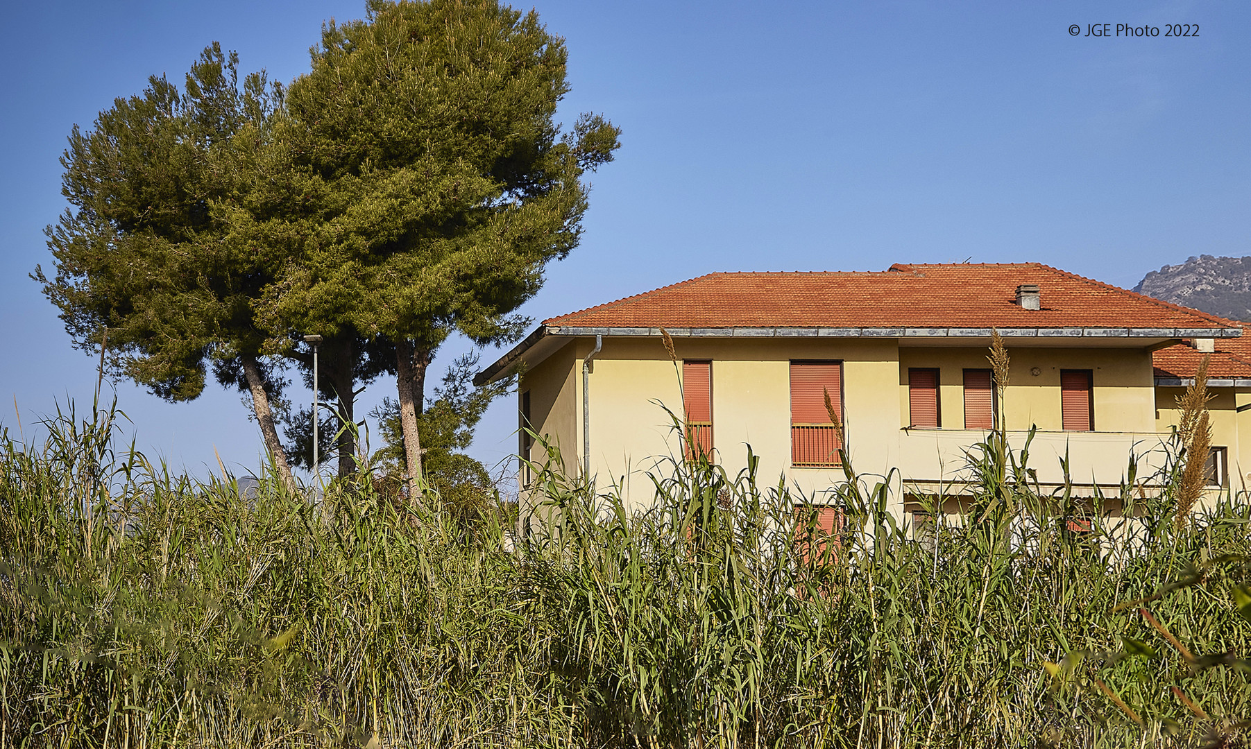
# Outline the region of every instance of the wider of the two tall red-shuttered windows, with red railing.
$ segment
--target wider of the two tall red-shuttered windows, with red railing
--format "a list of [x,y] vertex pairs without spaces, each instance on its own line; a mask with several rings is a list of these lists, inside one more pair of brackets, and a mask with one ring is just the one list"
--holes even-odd
[[838,430],[826,410],[826,394],[843,420],[841,361],[791,363],[791,463],[796,466],[838,465]]

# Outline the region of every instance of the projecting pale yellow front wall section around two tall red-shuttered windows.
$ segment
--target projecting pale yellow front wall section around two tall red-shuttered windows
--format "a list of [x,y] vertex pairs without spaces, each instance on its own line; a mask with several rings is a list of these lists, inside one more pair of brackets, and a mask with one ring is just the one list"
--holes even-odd
[[[812,495],[843,478],[841,469],[791,469],[792,359],[843,360],[853,464],[871,473],[891,466],[898,443],[893,340],[677,338],[674,346],[679,361],[712,360],[713,448],[727,470],[746,468],[751,445],[761,458],[758,476],[764,484],[788,475],[792,485]],[[579,354],[582,348],[579,341]],[[647,501],[653,491],[647,471],[657,468],[653,458],[678,456],[682,449],[661,408],[682,414],[679,379],[663,344],[604,339],[590,375],[590,403],[592,473],[600,485],[610,480],[626,486],[632,500]]]

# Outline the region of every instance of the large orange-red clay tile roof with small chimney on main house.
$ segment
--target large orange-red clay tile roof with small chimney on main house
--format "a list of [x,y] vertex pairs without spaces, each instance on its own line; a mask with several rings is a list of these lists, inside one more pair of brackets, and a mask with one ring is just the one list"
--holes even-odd
[[[1037,284],[1041,310],[1016,304]],[[713,273],[558,318],[584,328],[1233,328],[1041,263],[879,273]]]

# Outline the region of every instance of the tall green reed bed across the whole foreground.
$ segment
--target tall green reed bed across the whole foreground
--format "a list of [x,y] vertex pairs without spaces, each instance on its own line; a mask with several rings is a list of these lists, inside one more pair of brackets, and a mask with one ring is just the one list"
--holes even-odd
[[886,478],[824,534],[754,460],[629,511],[552,445],[518,535],[368,474],[171,475],[114,419],[0,445],[3,746],[1243,745],[1248,509],[1176,523],[1181,444],[1108,554],[993,433],[922,541]]

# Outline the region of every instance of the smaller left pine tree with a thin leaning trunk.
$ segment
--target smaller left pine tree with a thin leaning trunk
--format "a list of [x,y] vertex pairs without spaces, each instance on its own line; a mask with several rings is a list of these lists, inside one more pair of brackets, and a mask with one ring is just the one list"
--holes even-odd
[[295,488],[270,400],[281,379],[263,355],[253,304],[298,236],[273,221],[289,168],[269,148],[283,89],[264,73],[238,79],[238,55],[214,43],[183,91],[151,76],[116,99],[61,156],[74,206],[46,229],[56,275],[33,278],[61,310],[75,346],[108,328],[111,369],[170,401],[193,400],[211,363],[251,395],[284,483]]

